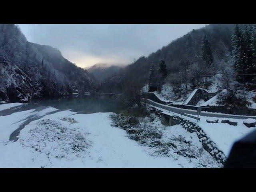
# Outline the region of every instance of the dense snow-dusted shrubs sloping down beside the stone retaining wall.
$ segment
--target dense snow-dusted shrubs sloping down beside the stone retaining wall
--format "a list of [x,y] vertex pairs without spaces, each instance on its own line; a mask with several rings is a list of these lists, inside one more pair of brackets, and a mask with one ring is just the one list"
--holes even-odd
[[220,166],[204,150],[196,133],[188,133],[182,126],[178,126],[175,131],[166,130],[160,123],[157,112],[138,118],[137,124],[129,124],[130,117],[123,114],[112,114],[111,118],[112,126],[126,130],[127,137],[150,148],[149,154],[152,156],[175,159],[183,156],[190,162],[194,161],[197,167]]

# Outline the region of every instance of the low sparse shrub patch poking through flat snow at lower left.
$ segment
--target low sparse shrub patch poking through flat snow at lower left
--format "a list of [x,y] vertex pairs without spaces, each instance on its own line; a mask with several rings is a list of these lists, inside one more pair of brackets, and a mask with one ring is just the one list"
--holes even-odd
[[34,148],[51,158],[72,159],[86,157],[91,142],[86,140],[82,128],[64,126],[60,122],[44,119],[37,122],[34,128],[20,134],[23,146]]

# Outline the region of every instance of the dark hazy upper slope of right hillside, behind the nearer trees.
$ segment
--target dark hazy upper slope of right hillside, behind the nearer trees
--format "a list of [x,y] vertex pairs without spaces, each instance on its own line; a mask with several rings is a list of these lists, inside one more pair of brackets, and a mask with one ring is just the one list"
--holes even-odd
[[215,62],[218,62],[231,53],[232,28],[232,24],[211,24],[198,30],[192,30],[149,56],[140,57],[136,62],[122,70],[122,72],[109,78],[101,88],[108,89],[112,87],[108,85],[111,85],[112,81],[116,81],[117,79],[119,79],[118,82],[120,84],[112,88],[112,92],[122,92],[126,87],[125,83],[129,83],[133,79],[146,84],[151,65],[153,64],[157,68],[158,63],[162,59],[166,63],[169,74],[175,74],[186,67],[180,64],[182,60],[188,61],[189,64],[199,61],[202,38],[205,34],[212,46]]

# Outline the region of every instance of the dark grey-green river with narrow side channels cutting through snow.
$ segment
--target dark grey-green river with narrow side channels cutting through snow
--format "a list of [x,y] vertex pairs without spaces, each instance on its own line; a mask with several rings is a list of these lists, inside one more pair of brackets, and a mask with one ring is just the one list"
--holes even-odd
[[[13,107],[10,109],[0,111],[0,116],[7,116],[15,112],[25,111],[35,109],[36,112],[40,112],[48,107],[53,107],[58,110],[53,112],[48,112],[48,114],[54,114],[63,110],[70,110],[80,114],[91,114],[96,112],[115,112],[118,113],[122,110],[120,103],[116,100],[110,99],[99,99],[99,98],[56,98],[56,99],[41,99],[41,100],[32,100],[28,103],[25,103],[21,106]],[[16,141],[18,140],[17,136],[26,125],[34,120],[38,120],[42,116],[33,115],[28,116],[25,121],[10,135],[9,140]]]

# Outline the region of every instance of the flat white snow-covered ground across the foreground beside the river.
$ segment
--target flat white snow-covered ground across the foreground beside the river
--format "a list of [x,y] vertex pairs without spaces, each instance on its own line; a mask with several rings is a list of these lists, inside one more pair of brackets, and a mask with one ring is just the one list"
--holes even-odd
[[[200,150],[198,138],[179,125],[165,127],[160,120],[154,122],[162,129],[163,140],[184,138],[199,152],[200,160],[178,154],[153,156],[152,148],[140,145],[124,130],[110,125],[112,113],[54,113],[55,110],[48,107],[0,116],[0,167],[202,167],[198,162],[220,166]],[[26,125],[16,142],[9,141],[10,134],[31,116],[41,118]]]

